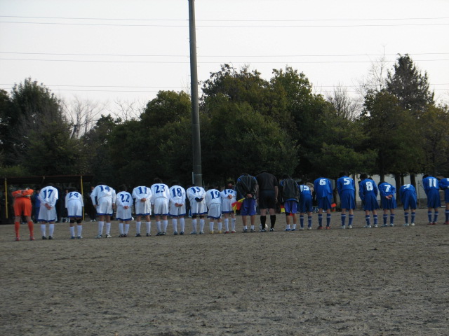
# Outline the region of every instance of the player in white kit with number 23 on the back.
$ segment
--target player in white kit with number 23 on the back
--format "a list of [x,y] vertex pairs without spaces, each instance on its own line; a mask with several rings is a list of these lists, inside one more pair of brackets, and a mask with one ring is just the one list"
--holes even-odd
[[[162,180],[157,178],[154,179],[154,184],[152,185],[152,204],[154,204],[154,217],[156,218],[157,234],[156,236],[165,236],[167,234],[168,227],[168,202],[170,200],[170,195],[168,195],[169,188],[166,184],[162,183]],[[161,228],[161,218],[162,225]]]

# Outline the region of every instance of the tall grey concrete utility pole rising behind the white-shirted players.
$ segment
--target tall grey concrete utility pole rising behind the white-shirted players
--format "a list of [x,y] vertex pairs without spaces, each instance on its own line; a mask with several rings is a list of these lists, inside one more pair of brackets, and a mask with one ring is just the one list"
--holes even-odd
[[203,174],[201,173],[201,139],[199,132],[195,0],[189,0],[189,28],[190,28],[190,90],[192,94],[192,151],[194,155],[193,183],[195,186],[202,186]]

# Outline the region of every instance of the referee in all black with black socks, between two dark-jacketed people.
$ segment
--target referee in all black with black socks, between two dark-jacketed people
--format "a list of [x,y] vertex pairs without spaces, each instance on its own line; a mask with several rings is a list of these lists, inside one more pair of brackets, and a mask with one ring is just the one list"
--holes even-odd
[[267,232],[265,223],[267,223],[267,210],[269,211],[269,221],[271,223],[270,231],[274,231],[276,223],[276,203],[278,202],[278,180],[276,176],[270,174],[266,170],[262,170],[255,176],[259,188],[256,196],[260,209],[260,224],[262,225],[260,232]]

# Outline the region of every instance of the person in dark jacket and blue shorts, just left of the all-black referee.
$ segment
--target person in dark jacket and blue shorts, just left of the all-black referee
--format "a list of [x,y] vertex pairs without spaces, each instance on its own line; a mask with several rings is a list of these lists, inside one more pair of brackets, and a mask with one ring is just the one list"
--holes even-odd
[[[248,226],[246,225],[248,216],[250,216],[251,223],[250,232],[255,232],[255,208],[257,202],[256,196],[258,195],[257,180],[250,174],[241,174],[239,179],[237,179],[236,191],[239,198],[242,197],[245,199],[243,200],[240,208],[241,221],[243,222],[243,233],[248,232]],[[274,231],[274,228],[270,228],[269,230]]]

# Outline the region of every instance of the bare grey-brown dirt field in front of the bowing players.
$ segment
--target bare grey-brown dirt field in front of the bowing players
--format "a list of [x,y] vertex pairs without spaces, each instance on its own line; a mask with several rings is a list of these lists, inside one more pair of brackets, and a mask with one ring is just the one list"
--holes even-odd
[[60,223],[53,241],[0,225],[0,335],[448,335],[443,221],[421,209],[404,228],[398,211],[364,229],[356,211],[353,230],[337,213],[333,230],[283,232],[279,215],[276,232],[243,234],[238,218],[234,235],[140,238],[113,222],[112,239],[86,222],[80,240]]

